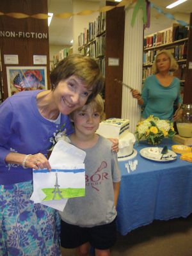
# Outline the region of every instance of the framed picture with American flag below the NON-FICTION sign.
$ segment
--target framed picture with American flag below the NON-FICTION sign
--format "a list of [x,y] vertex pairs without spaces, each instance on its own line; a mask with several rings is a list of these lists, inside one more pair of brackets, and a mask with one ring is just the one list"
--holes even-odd
[[47,67],[6,67],[8,96],[21,91],[46,90]]

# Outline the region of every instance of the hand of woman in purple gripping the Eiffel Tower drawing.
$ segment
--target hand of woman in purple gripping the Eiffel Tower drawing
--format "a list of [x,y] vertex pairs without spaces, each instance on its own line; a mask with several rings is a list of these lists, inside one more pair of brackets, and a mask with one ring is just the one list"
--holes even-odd
[[42,153],[38,153],[35,155],[28,155],[24,163],[24,166],[26,168],[33,168],[35,170],[46,168],[49,171],[51,171],[51,165],[49,164],[49,161]]

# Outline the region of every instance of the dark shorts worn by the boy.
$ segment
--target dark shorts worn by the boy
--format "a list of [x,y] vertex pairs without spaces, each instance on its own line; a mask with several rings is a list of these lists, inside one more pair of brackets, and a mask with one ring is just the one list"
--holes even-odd
[[93,248],[107,250],[116,242],[116,219],[91,228],[71,225],[61,220],[61,246],[76,248],[89,242]]

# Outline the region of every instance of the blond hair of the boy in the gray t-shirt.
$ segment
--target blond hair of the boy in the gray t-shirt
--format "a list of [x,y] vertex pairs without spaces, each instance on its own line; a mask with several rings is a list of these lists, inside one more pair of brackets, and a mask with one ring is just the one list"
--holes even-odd
[[[92,108],[94,111],[97,111],[99,113],[100,121],[105,119],[106,115],[104,113],[104,100],[99,94],[97,94],[95,98],[93,98],[90,102],[85,104],[82,108],[76,109],[75,111],[86,111],[86,109],[88,108]],[[73,120],[74,112],[69,114],[72,120]]]

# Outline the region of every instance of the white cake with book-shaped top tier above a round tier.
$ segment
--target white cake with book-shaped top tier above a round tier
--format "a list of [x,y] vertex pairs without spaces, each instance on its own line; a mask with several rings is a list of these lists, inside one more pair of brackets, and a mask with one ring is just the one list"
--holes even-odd
[[129,120],[120,118],[109,118],[100,122],[97,133],[105,138],[118,139],[118,160],[125,160],[133,153],[133,145],[136,141],[134,134],[129,132]]

